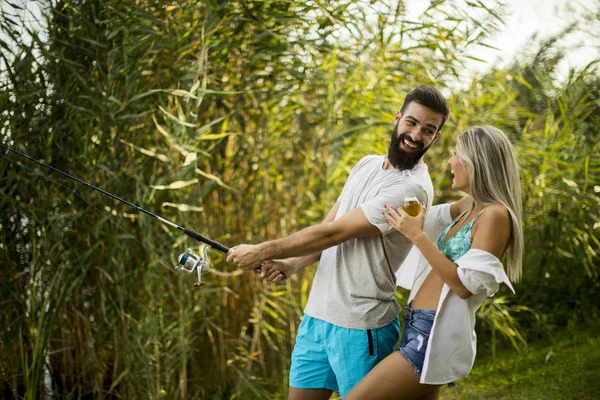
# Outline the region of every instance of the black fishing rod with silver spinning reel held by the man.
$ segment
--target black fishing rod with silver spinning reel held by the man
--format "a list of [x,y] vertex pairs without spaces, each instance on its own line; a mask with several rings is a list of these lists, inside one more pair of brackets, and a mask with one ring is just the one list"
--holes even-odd
[[105,194],[105,195],[107,195],[107,196],[109,196],[109,197],[111,197],[111,198],[113,198],[115,200],[118,200],[121,203],[127,204],[128,206],[133,207],[136,210],[141,211],[144,214],[147,214],[147,215],[149,215],[149,216],[151,216],[151,217],[159,220],[160,222],[164,223],[165,225],[168,225],[168,226],[170,226],[172,228],[179,229],[180,231],[182,231],[183,233],[185,233],[189,237],[191,237],[193,239],[196,239],[199,242],[204,243],[204,245],[202,246],[201,254],[194,253],[192,251],[192,249],[188,249],[187,253],[180,254],[179,257],[178,257],[178,262],[179,262],[180,266],[175,267],[175,269],[177,269],[177,270],[183,270],[183,271],[188,272],[188,273],[193,273],[194,270],[196,270],[197,274],[198,274],[198,281],[194,283],[194,286],[203,286],[204,285],[204,283],[202,282],[201,275],[207,273],[209,271],[209,268],[210,268],[210,261],[208,259],[208,254],[206,252],[206,246],[210,246],[213,249],[219,250],[219,251],[221,251],[221,252],[223,252],[225,254],[227,254],[229,252],[229,248],[227,246],[225,246],[225,245],[223,245],[223,244],[221,244],[221,243],[219,243],[219,242],[217,242],[215,240],[209,239],[206,236],[204,236],[204,235],[202,235],[202,234],[200,234],[200,233],[198,233],[198,232],[196,232],[196,231],[194,231],[192,229],[185,228],[185,227],[183,227],[181,225],[177,225],[176,223],[174,223],[172,221],[169,221],[166,218],[163,218],[163,217],[161,217],[159,215],[156,215],[156,214],[154,214],[154,213],[152,213],[152,212],[150,212],[148,210],[145,210],[144,208],[142,208],[142,207],[140,207],[140,206],[138,206],[136,204],[133,204],[133,203],[127,201],[127,200],[124,200],[124,199],[122,199],[122,198],[120,198],[118,196],[115,196],[112,193],[109,193],[109,192],[107,192],[105,190],[102,190],[102,189],[100,189],[97,186],[94,186],[94,185],[92,185],[90,183],[87,183],[86,181],[84,181],[82,179],[79,179],[79,178],[77,178],[77,177],[75,177],[73,175],[70,175],[70,174],[68,174],[68,173],[66,173],[64,171],[61,171],[61,170],[59,170],[59,169],[57,169],[57,168],[55,168],[55,167],[53,167],[53,166],[51,166],[49,164],[46,164],[46,163],[44,163],[42,161],[39,161],[39,160],[36,160],[35,158],[28,156],[27,154],[24,154],[24,153],[21,153],[20,151],[11,149],[10,147],[8,147],[8,146],[6,146],[6,145],[4,145],[2,143],[0,143],[0,147],[4,148],[4,149],[6,149],[6,150],[8,150],[8,151],[10,151],[12,153],[15,153],[15,154],[17,154],[17,155],[19,155],[21,157],[24,157],[24,158],[26,158],[26,159],[28,159],[30,161],[33,161],[33,162],[35,162],[35,163],[37,163],[37,164],[39,164],[41,166],[49,168],[50,170],[52,170],[52,171],[54,171],[54,172],[56,172],[56,173],[58,173],[58,174],[60,174],[62,176],[65,176],[65,177],[67,177],[69,179],[72,179],[72,180],[74,180],[76,182],[79,182],[82,185],[85,185],[85,186],[90,187],[90,188],[92,188],[94,190],[97,190],[98,192],[100,192],[102,194]]

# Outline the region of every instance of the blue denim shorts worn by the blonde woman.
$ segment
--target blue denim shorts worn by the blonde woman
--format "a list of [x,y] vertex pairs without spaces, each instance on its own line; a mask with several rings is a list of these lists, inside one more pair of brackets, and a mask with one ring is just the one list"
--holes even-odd
[[421,375],[425,363],[425,352],[429,343],[429,334],[433,327],[435,311],[404,308],[404,328],[398,351],[415,368],[415,374]]

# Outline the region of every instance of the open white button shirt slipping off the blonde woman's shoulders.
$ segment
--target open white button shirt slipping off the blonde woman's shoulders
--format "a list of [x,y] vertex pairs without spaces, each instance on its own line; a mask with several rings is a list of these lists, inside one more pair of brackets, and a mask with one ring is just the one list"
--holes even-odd
[[[449,204],[432,207],[425,218],[425,233],[437,244],[442,231],[451,223]],[[498,291],[500,283],[505,283],[514,293],[502,263],[493,254],[471,249],[455,263],[462,284],[473,295],[461,299],[444,284],[425,353],[420,380],[424,384],[441,385],[469,375],[477,350],[475,313],[486,297]],[[413,247],[396,275],[398,286],[411,289],[409,303],[429,272],[431,266],[416,246]]]

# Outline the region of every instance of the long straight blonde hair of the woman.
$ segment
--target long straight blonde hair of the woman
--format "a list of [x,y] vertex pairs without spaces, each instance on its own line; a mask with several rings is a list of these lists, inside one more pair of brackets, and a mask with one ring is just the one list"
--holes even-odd
[[507,270],[509,279],[516,282],[521,278],[523,264],[523,211],[515,149],[501,130],[474,126],[460,134],[455,151],[469,171],[473,199],[484,207],[500,203],[510,213]]

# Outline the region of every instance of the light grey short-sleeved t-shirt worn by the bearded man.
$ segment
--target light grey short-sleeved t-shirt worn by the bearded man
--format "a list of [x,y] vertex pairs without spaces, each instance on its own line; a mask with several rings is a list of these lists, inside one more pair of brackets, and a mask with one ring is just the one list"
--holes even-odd
[[400,312],[394,292],[396,271],[412,243],[386,221],[384,205],[398,209],[408,185],[427,209],[433,185],[427,165],[417,164],[405,181],[397,169],[384,169],[384,156],[367,156],[352,169],[338,198],[335,219],[360,207],[381,235],[350,239],[321,253],[304,313],[337,326],[377,329]]

